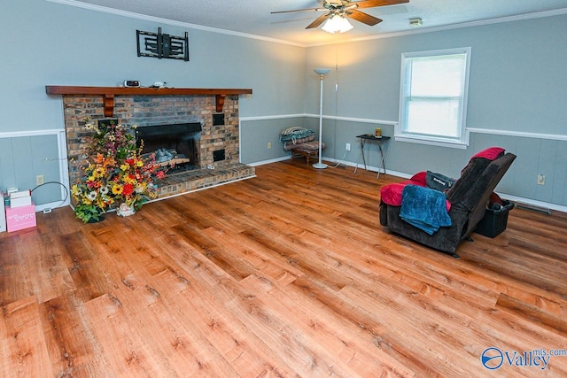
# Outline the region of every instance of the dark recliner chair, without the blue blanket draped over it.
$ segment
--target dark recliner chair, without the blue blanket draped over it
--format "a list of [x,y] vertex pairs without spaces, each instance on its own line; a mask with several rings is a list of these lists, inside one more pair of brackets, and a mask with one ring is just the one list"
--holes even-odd
[[[451,226],[441,227],[433,235],[402,220],[401,205],[384,202],[384,194],[388,189],[392,189],[388,187],[399,184],[385,185],[381,189],[380,224],[396,234],[459,258],[456,253],[457,246],[470,236],[482,220],[489,197],[515,158],[516,155],[505,154],[504,150],[498,147],[483,150],[470,158],[469,164],[462,169],[461,177],[446,192],[447,201],[450,203],[448,215]],[[412,181],[406,183],[411,184]]]

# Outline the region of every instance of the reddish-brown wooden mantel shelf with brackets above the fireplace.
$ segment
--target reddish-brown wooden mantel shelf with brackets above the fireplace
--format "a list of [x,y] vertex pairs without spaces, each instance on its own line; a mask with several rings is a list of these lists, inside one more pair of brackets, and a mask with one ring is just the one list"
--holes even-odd
[[252,89],[195,89],[195,88],[135,88],[135,87],[69,87],[46,85],[48,95],[100,95],[105,101],[105,117],[114,113],[114,96],[215,96],[216,111],[222,112],[224,97],[230,95],[251,95]]

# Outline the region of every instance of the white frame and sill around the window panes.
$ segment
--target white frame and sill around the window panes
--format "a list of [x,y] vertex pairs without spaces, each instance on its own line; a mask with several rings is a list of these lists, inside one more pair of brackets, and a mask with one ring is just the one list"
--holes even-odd
[[[456,48],[456,49],[445,49],[445,50],[431,50],[431,51],[419,51],[419,52],[404,52],[401,54],[401,70],[400,70],[400,122],[394,127],[394,139],[400,142],[408,143],[423,143],[438,145],[443,147],[452,147],[459,149],[466,149],[469,145],[469,131],[466,127],[467,120],[467,103],[469,95],[469,72],[470,72],[470,47]],[[411,58],[423,58],[423,57],[441,57],[447,55],[461,55],[465,56],[465,67],[464,67],[464,84],[462,86],[462,96],[461,99],[461,118],[460,118],[460,135],[458,138],[444,136],[444,135],[424,135],[411,133],[406,131],[406,123],[408,122],[407,114],[407,99],[408,96],[404,89],[407,89],[410,83],[406,82],[406,64],[408,59]]]

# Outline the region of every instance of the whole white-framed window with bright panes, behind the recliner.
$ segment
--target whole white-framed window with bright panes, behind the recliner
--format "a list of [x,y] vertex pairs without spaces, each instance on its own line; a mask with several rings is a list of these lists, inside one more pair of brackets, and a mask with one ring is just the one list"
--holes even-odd
[[470,47],[401,55],[396,140],[466,148]]

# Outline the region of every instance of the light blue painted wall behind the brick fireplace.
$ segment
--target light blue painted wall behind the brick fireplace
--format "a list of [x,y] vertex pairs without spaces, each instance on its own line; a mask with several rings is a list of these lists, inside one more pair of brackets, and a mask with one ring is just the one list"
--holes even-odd
[[[0,39],[0,148],[19,143],[6,140],[12,138],[3,134],[64,128],[61,96],[47,96],[46,85],[115,86],[128,79],[146,86],[167,81],[177,88],[251,88],[252,98],[241,97],[242,114],[304,113],[307,52],[303,47],[44,0],[3,2],[0,25],[4,35]],[[170,35],[189,32],[190,62],[137,57],[136,29],[157,32],[158,27]],[[253,148],[257,143],[250,144]],[[50,145],[57,152],[57,143]],[[276,149],[277,143],[272,151]],[[38,174],[44,174],[46,181],[63,181],[57,169],[44,169],[43,153],[37,151],[33,161],[29,154],[28,149],[3,148],[0,189],[31,189]],[[51,194],[38,198],[38,204],[61,197],[57,186],[49,190]]]

